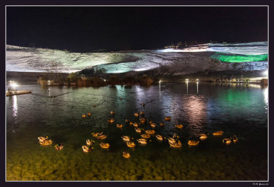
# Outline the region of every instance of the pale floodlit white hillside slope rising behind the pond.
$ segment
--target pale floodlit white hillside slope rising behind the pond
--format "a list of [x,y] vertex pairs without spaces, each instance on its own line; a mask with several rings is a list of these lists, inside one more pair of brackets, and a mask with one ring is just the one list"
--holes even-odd
[[[198,71],[223,71],[235,68],[233,63],[217,62],[216,52],[229,55],[261,55],[268,53],[267,42],[241,44],[205,44],[185,49],[119,51],[108,53],[72,53],[56,49],[6,46],[6,71],[48,71],[51,62],[62,64],[64,73],[81,71],[92,66],[103,67],[107,73],[147,71],[160,68],[163,73],[184,75]],[[251,66],[250,66],[251,65]],[[242,62],[237,68],[264,69],[267,62]]]

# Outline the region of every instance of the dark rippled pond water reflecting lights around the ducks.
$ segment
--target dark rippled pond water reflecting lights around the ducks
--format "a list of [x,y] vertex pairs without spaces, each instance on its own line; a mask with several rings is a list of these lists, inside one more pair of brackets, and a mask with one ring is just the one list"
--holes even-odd
[[[33,94],[6,98],[7,180],[268,179],[267,87],[161,82],[149,88],[23,85],[18,90],[33,90]],[[107,122],[110,110],[116,113],[114,124]],[[171,137],[177,133],[182,147],[171,148],[155,137],[145,146],[138,145],[140,134],[125,119],[138,122],[134,112],[140,110],[158,125],[156,134]],[[91,118],[82,119],[88,112]],[[165,116],[171,116],[171,121],[164,121]],[[122,123],[123,129],[116,123]],[[175,124],[184,128],[176,129]],[[152,129],[148,123],[141,127]],[[212,136],[219,130],[223,136]],[[103,132],[108,138],[96,140],[92,132]],[[187,141],[201,133],[210,135],[197,147],[189,147]],[[46,134],[53,145],[42,147],[37,138]],[[234,134],[238,142],[224,145],[223,138]],[[123,135],[133,136],[136,147],[127,147]],[[82,145],[88,138],[96,141],[94,150],[84,153]],[[54,149],[58,142],[64,143],[61,151]],[[102,149],[99,142],[111,147]],[[123,151],[132,158],[123,158]]]

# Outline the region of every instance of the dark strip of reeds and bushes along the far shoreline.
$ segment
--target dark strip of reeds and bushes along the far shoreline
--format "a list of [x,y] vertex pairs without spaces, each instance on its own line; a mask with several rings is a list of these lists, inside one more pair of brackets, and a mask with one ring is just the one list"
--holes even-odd
[[[260,77],[262,71],[210,71],[199,72],[188,75],[160,75],[153,71],[147,71],[145,73],[119,73],[119,74],[106,74],[100,75],[92,74],[85,76],[88,71],[81,71],[81,73],[70,73],[66,77],[57,75],[45,76],[38,78],[38,83],[42,86],[62,86],[62,85],[75,85],[75,86],[106,86],[106,85],[134,85],[151,86],[158,84],[160,80],[176,82],[184,81],[205,81],[205,82],[239,82],[249,83],[251,77]],[[93,71],[91,71],[93,72]],[[258,80],[260,82],[260,80]]]

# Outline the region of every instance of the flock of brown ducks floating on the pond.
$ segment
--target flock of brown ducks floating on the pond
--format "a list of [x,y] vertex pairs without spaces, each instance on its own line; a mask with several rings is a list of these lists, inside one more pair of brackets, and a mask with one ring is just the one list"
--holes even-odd
[[[142,103],[143,106],[145,106],[145,103]],[[96,105],[93,105],[93,108],[95,108]],[[110,114],[112,116],[115,115],[114,111],[110,111]],[[157,125],[155,123],[153,123],[153,121],[149,121],[149,125],[153,128],[153,129],[143,129],[141,126],[145,125],[147,123],[147,119],[144,118],[145,112],[143,112],[142,110],[140,112],[136,112],[134,113],[134,116],[138,117],[139,122],[132,122],[129,121],[129,119],[125,119],[125,123],[127,125],[130,125],[132,127],[134,127],[135,132],[140,134],[140,138],[138,138],[136,141],[138,142],[138,144],[141,145],[147,145],[148,142],[151,142],[150,138],[152,136],[155,136],[155,138],[157,138],[158,140],[160,140],[161,142],[163,142],[164,140],[167,140],[169,142],[170,147],[182,147],[182,142],[180,142],[179,140],[179,136],[177,134],[173,134],[172,137],[164,137],[160,134],[155,134],[155,127],[157,127]],[[83,114],[82,118],[86,119],[86,118],[90,118],[91,117],[91,112],[88,112],[88,114]],[[171,116],[166,116],[164,118],[165,121],[171,121]],[[111,119],[108,119],[108,123],[113,124],[114,123],[114,118],[112,117]],[[164,122],[161,122],[159,124],[161,127],[164,127]],[[123,128],[123,124],[116,124],[117,128]],[[177,129],[183,129],[183,125],[182,124],[176,124],[175,127]],[[192,140],[188,140],[188,145],[189,146],[197,146],[200,142],[200,140],[206,140],[208,138],[208,133],[207,134],[199,134],[199,138],[197,139],[192,139]],[[217,132],[213,132],[212,133],[213,136],[222,136],[223,135],[223,131],[217,131]],[[92,136],[94,138],[96,138],[97,140],[104,140],[106,138],[108,138],[107,135],[103,134],[103,132],[92,132]],[[134,138],[132,138],[132,136],[121,136],[122,140],[127,144],[127,147],[136,147],[136,144],[134,142]],[[50,140],[48,136],[45,137],[38,137],[39,143],[42,146],[47,146],[47,145],[51,145],[53,143],[53,140]],[[232,137],[227,137],[227,138],[223,138],[223,143],[226,145],[231,144],[232,142],[237,142],[238,138],[236,135],[232,136]],[[86,145],[82,146],[82,149],[84,152],[88,153],[91,152],[94,148],[92,147],[92,145],[94,145],[95,140],[86,140]],[[101,142],[100,147],[103,149],[108,149],[110,147],[110,144],[108,142],[104,143]],[[55,150],[56,151],[60,151],[61,149],[64,148],[64,144],[63,143],[58,143],[55,145]],[[123,151],[122,153],[124,158],[130,158],[131,155],[129,154],[129,152],[127,151]]]

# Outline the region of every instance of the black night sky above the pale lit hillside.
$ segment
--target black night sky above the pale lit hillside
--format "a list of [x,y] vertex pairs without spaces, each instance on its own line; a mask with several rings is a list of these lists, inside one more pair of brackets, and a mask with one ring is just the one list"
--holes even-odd
[[7,44],[88,52],[267,40],[267,7],[8,7]]

